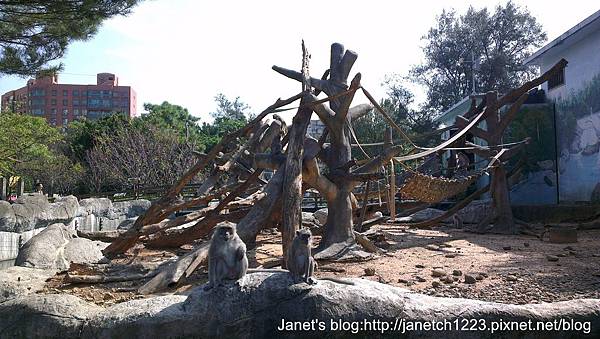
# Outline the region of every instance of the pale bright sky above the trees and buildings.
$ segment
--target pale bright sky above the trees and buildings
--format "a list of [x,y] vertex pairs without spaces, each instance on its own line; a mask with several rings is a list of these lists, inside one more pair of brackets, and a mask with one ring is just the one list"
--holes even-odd
[[[516,0],[540,22],[548,41],[598,9],[597,0]],[[104,22],[92,39],[73,43],[60,60],[60,83],[93,84],[95,74],[115,73],[120,85],[132,86],[143,103],[168,101],[210,121],[214,97],[239,96],[255,113],[301,84],[271,70],[272,65],[299,69],[301,41],[312,58],[311,74],[328,67],[331,43],[358,53],[350,78],[376,99],[389,74],[407,74],[423,57],[422,36],[443,9],[459,13],[471,5],[492,9],[504,1],[196,1],[146,0],[126,17]],[[24,86],[26,79],[0,78],[0,92]],[[411,88],[416,101],[423,90]],[[367,102],[362,93],[354,103]],[[284,118],[289,119],[289,116]]]

